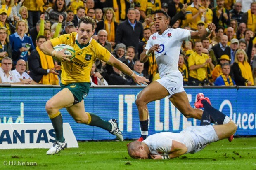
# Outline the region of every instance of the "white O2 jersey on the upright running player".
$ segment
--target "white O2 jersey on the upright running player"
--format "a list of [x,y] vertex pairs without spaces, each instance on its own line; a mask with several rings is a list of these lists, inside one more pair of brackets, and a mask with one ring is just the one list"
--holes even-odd
[[183,40],[191,39],[190,30],[169,28],[162,35],[152,34],[145,49],[149,50],[154,44],[160,45],[160,50],[154,52],[160,77],[171,72],[177,72],[181,44]]

